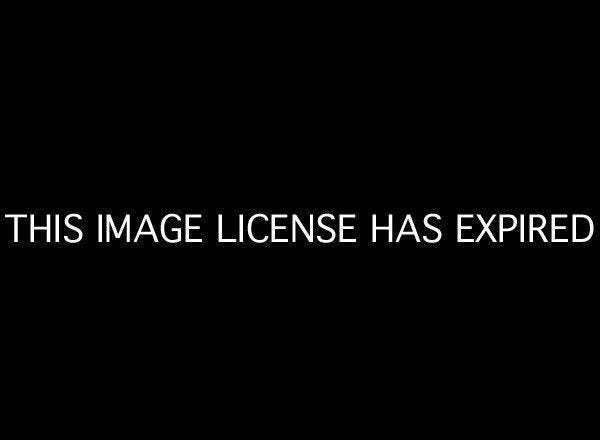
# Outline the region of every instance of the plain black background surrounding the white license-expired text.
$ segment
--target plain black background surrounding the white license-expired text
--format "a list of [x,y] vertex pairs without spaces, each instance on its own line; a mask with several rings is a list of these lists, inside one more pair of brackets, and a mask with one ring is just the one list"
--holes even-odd
[[[2,213],[356,212],[361,243],[5,240],[12,413],[572,429],[594,389],[597,238],[460,246],[453,218],[597,221],[592,29],[539,11],[247,12],[30,11],[3,55]],[[440,245],[368,244],[371,213],[428,212]]]

